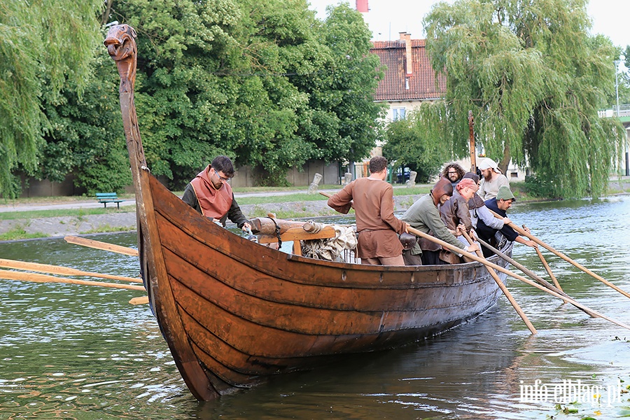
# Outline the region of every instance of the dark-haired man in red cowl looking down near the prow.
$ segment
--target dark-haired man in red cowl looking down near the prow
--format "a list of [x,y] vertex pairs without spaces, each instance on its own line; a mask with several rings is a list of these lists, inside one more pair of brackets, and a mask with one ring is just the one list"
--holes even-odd
[[228,156],[217,156],[211,164],[186,186],[181,200],[207,218],[225,227],[226,219],[242,230],[251,225],[237,204],[228,181],[234,176],[234,165]]

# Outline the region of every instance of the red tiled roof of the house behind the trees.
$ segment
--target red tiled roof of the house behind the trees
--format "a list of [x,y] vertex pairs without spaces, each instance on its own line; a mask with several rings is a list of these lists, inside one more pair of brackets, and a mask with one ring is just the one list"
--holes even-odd
[[[374,100],[409,101],[428,100],[444,97],[446,77],[440,74],[439,86],[435,86],[435,71],[431,68],[424,39],[412,39],[412,73],[406,75],[405,40],[373,41],[370,52],[381,58],[387,67],[385,77],[379,82]],[[405,78],[409,79],[409,89],[405,89]]]

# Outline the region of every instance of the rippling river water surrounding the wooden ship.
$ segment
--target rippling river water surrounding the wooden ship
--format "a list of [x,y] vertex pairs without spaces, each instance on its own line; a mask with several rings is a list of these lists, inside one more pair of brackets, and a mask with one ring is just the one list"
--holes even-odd
[[[630,197],[519,204],[510,217],[630,290]],[[134,246],[134,234],[97,237]],[[630,323],[630,300],[542,250],[563,289]],[[137,258],[62,239],[0,244],[0,258],[138,276]],[[531,248],[514,258],[547,274]],[[616,419],[630,416],[630,330],[510,279],[505,297],[438,337],[349,356],[197,402],[138,291],[0,280],[0,419]],[[553,417],[551,417],[553,416]]]

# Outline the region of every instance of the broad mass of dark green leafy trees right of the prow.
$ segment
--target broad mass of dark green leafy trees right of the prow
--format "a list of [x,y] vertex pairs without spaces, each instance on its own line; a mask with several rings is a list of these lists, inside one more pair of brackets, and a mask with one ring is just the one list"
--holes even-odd
[[181,186],[214,155],[285,183],[309,159],[357,160],[377,138],[377,57],[343,5],[319,22],[307,2],[114,2],[139,34],[137,109],[148,164]]

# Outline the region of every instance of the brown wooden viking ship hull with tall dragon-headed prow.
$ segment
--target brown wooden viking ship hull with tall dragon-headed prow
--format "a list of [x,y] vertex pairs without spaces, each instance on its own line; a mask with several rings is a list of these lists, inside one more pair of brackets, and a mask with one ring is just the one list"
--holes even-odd
[[313,370],[346,353],[414,342],[496,302],[500,290],[479,262],[385,267],[316,260],[249,241],[198,214],[147,168],[134,108],[134,37],[134,29],[118,25],[104,44],[121,78],[141,272],[195,398]]

